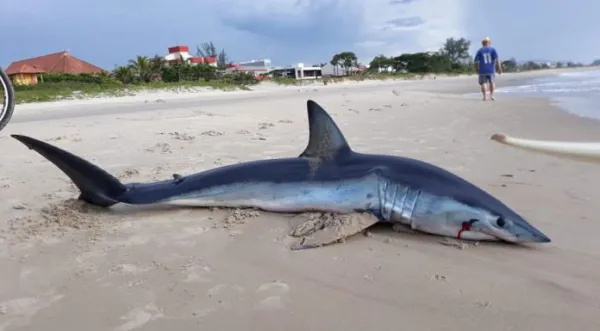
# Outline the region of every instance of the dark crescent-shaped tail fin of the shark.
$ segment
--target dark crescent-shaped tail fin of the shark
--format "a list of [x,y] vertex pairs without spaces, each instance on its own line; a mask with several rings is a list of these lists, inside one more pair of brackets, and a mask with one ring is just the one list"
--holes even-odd
[[115,197],[127,191],[127,187],[114,176],[76,155],[27,136],[14,134],[12,137],[38,152],[69,176],[81,191],[81,200],[110,207],[119,202]]

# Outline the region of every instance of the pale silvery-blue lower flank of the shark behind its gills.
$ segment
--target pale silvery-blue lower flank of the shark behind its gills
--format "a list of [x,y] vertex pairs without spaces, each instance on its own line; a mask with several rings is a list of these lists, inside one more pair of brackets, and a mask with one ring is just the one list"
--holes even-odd
[[272,212],[379,211],[377,179],[243,182],[204,188],[161,201],[188,207],[246,207]]

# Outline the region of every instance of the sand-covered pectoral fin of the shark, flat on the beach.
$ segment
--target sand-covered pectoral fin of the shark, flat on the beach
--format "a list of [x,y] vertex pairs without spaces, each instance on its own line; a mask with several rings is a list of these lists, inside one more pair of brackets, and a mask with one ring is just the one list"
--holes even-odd
[[308,220],[298,225],[290,236],[301,238],[292,245],[292,250],[301,250],[333,244],[353,236],[373,224],[379,219],[370,213],[351,214],[317,214],[309,216]]

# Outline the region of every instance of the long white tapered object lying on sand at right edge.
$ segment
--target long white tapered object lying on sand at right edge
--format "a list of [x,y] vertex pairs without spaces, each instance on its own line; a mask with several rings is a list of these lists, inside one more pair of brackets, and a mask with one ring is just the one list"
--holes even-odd
[[492,140],[523,150],[600,163],[600,142],[534,140],[494,134]]

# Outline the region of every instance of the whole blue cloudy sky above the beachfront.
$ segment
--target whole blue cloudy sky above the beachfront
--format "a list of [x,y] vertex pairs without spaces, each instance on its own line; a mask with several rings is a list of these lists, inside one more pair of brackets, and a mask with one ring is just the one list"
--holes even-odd
[[465,37],[472,52],[489,36],[501,59],[600,58],[597,0],[0,0],[0,65],[68,50],[107,70],[136,55],[202,42],[233,61],[329,62],[353,51],[438,50]]

